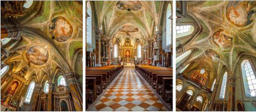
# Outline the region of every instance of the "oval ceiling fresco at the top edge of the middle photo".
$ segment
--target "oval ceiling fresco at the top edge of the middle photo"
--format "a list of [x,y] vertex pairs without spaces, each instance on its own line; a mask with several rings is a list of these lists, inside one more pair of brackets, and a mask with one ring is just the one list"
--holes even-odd
[[137,11],[142,8],[139,1],[118,1],[116,7],[120,10]]

